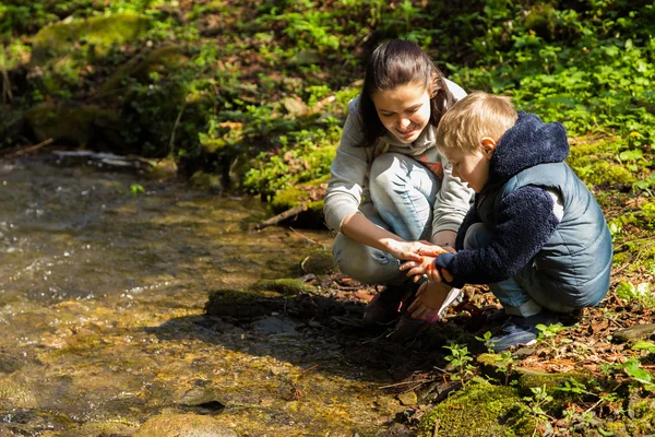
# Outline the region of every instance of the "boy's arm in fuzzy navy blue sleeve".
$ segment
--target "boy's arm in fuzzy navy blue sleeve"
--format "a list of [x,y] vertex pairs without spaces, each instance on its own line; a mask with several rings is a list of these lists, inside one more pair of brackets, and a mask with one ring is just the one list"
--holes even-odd
[[500,202],[491,244],[477,250],[440,255],[438,269],[452,274],[449,284],[453,286],[489,284],[514,276],[557,228],[559,220],[552,209],[553,200],[546,190],[533,186],[517,189]]

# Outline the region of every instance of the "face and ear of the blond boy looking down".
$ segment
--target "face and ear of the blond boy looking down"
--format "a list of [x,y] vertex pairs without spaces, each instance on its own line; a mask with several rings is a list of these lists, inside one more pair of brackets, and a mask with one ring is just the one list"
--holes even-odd
[[[490,140],[490,142],[485,140]],[[493,140],[485,138],[473,152],[451,149],[445,150],[443,153],[453,167],[453,176],[467,182],[468,187],[475,192],[480,192],[489,180],[489,164],[495,147]]]

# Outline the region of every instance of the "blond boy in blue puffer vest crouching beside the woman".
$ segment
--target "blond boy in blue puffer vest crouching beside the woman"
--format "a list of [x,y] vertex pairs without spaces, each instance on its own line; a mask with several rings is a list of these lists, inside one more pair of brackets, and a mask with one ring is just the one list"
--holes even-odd
[[538,323],[557,323],[557,314],[605,297],[611,237],[600,206],[564,163],[562,125],[476,92],[443,116],[437,141],[453,176],[476,192],[475,203],[457,232],[457,252],[422,251],[422,263],[409,261],[402,270],[455,287],[489,284],[510,316],[490,341],[496,352],[533,343]]

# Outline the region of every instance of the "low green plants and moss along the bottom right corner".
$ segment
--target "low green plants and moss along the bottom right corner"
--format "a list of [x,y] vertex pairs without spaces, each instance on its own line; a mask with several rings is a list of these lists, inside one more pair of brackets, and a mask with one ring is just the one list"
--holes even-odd
[[[547,335],[551,328],[543,327],[539,342],[555,345]],[[445,347],[451,351],[445,356],[449,376],[463,385],[422,415],[418,436],[608,436],[655,430],[655,375],[645,366],[655,354],[652,342],[633,342],[627,350],[641,351],[639,358],[602,365],[595,374],[583,368],[536,371],[519,367],[509,352],[474,359],[465,346]]]

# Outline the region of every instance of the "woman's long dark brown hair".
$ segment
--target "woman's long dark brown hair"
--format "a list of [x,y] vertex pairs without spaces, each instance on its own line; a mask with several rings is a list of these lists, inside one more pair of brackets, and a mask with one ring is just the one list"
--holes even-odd
[[360,146],[373,145],[386,132],[371,99],[373,93],[409,83],[422,85],[430,93],[430,125],[434,127],[445,109],[455,102],[443,81],[443,73],[419,46],[407,40],[391,39],[376,48],[366,69],[358,106],[364,121],[364,142]]

